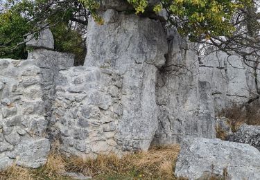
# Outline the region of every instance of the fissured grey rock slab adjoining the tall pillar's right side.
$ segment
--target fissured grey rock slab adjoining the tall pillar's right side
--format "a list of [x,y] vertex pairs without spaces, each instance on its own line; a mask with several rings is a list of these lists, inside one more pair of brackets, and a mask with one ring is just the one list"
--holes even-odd
[[180,143],[187,135],[216,136],[210,84],[198,80],[198,57],[168,30],[166,64],[157,72],[159,128],[153,143]]

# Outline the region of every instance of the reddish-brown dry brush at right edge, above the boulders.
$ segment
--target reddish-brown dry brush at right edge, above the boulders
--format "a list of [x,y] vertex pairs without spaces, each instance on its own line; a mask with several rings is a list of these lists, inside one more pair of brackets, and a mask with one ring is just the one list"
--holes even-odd
[[[218,116],[225,116],[229,119],[229,125],[233,132],[236,132],[243,123],[248,125],[260,125],[260,105],[248,105],[241,107],[232,105],[229,109],[224,109]],[[217,129],[217,133],[223,136],[222,132]]]

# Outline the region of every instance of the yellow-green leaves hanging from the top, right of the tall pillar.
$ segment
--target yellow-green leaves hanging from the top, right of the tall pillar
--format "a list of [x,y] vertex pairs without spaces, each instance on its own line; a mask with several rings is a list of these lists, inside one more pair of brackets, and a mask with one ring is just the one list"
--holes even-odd
[[[144,12],[148,0],[128,0],[136,12]],[[239,8],[249,6],[251,0],[162,0],[153,10],[165,8],[169,22],[191,41],[211,36],[230,36],[234,33],[232,17]]]

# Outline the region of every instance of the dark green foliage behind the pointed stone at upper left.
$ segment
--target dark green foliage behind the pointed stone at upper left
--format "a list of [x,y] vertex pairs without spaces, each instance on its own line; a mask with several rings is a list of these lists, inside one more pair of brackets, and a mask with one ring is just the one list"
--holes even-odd
[[[58,1],[57,1],[58,2]],[[74,53],[76,58],[84,59],[83,38],[76,28],[71,28],[71,17],[77,11],[66,1],[58,8],[49,8],[47,0],[8,0],[0,8],[0,58],[26,59],[27,51],[24,35],[40,30],[42,24],[49,24],[55,42],[55,51]],[[55,4],[54,1],[51,3]],[[57,3],[59,4],[59,3]],[[63,7],[64,6],[64,7]]]

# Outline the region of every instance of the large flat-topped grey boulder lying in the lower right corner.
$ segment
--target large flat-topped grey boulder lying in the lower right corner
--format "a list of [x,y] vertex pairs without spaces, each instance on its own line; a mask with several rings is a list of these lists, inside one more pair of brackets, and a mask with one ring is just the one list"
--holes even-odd
[[260,152],[246,144],[219,139],[185,138],[175,166],[177,177],[259,179]]

